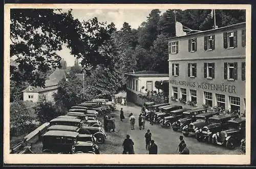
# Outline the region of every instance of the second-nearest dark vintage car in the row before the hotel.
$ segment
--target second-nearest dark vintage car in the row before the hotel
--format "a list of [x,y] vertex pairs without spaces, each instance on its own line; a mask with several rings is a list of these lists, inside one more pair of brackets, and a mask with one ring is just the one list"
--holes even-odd
[[209,124],[198,128],[196,131],[196,138],[198,141],[207,140],[209,143],[212,141],[212,135],[226,130],[228,128],[228,120],[237,118],[237,115],[220,114],[209,118]]

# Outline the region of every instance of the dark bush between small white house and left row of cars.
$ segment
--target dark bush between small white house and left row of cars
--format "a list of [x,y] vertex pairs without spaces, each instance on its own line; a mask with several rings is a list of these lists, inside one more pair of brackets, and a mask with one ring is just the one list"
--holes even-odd
[[52,102],[38,102],[34,109],[37,120],[41,124],[50,122],[53,118],[65,114],[65,111],[57,111],[57,106]]

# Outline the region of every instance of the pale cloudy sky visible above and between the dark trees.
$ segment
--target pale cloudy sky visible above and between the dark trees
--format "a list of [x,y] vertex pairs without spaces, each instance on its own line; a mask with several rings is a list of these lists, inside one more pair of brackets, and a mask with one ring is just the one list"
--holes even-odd
[[[123,22],[129,23],[131,28],[137,29],[152,9],[73,9],[72,15],[80,21],[97,17],[100,22],[114,22],[117,30],[122,28]],[[161,14],[167,9],[161,9]],[[64,11],[64,10],[63,10]],[[66,11],[66,10],[65,10]],[[68,10],[67,10],[68,11]],[[70,50],[65,46],[57,54],[67,61],[67,66],[73,66],[75,57],[70,54]]]

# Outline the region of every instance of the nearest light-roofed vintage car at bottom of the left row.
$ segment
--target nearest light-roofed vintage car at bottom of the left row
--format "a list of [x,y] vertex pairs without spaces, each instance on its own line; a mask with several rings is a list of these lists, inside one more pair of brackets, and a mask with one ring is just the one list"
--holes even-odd
[[93,142],[77,141],[79,133],[51,130],[42,135],[43,153],[92,153],[99,154],[98,146]]

